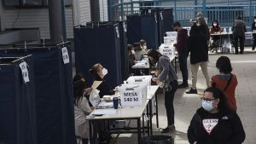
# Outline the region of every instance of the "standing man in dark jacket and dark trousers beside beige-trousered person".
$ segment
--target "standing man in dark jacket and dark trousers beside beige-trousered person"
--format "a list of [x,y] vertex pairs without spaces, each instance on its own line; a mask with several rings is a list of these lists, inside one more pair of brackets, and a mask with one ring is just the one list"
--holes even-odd
[[178,85],[178,88],[187,88],[189,87],[189,72],[187,66],[187,59],[189,56],[187,49],[188,31],[184,29],[178,21],[172,26],[173,29],[177,31],[177,43],[175,43],[173,46],[177,49],[180,71],[183,75],[183,83]]

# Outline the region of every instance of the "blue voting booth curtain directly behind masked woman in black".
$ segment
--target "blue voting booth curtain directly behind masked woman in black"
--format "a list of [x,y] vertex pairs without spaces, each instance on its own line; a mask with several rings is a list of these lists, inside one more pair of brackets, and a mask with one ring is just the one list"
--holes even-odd
[[118,29],[118,24],[74,29],[76,72],[83,73],[89,84],[93,82],[89,70],[96,63],[108,69],[104,79],[112,89],[122,83]]

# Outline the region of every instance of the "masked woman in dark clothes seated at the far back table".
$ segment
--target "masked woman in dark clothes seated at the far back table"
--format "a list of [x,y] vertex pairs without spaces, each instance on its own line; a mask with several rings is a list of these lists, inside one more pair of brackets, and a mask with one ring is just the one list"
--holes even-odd
[[[213,20],[212,21],[212,27],[210,28],[210,34],[214,34],[217,32],[222,32],[221,27],[218,25],[218,21],[217,20]],[[216,52],[218,51],[218,47],[220,44],[220,37],[219,36],[212,36],[211,39],[213,40],[212,43],[212,52],[214,51],[214,49],[216,50]]]

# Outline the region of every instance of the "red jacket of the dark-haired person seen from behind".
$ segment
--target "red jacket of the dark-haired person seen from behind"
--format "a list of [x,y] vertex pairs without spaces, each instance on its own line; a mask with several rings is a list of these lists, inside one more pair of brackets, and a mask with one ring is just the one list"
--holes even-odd
[[[236,110],[236,86],[237,86],[237,79],[236,75],[232,74],[232,79],[230,81],[229,86],[227,89],[225,87],[228,84],[230,78],[230,74],[220,74],[220,75],[215,75],[212,77],[212,84],[215,83],[216,87],[220,90],[224,91],[224,94],[227,96],[228,102],[230,104],[230,108],[233,110]],[[225,90],[224,90],[225,89]]]

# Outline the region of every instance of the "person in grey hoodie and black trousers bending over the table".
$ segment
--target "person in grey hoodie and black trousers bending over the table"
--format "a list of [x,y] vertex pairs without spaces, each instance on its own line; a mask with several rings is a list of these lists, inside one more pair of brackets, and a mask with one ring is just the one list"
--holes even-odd
[[177,90],[177,75],[174,66],[168,56],[161,55],[160,52],[155,49],[148,51],[148,59],[154,64],[157,63],[158,71],[155,73],[155,77],[152,78],[152,80],[166,84],[164,91],[168,126],[166,129],[162,130],[162,133],[173,132],[175,130],[173,99]]

